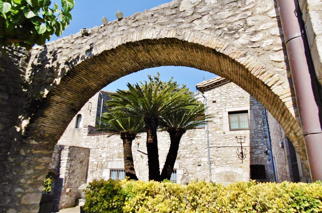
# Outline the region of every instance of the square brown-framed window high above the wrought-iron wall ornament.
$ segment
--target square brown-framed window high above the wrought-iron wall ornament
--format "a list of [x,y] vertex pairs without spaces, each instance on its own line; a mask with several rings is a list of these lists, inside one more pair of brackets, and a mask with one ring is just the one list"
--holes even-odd
[[230,130],[249,129],[248,111],[229,112],[228,118]]

